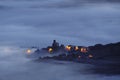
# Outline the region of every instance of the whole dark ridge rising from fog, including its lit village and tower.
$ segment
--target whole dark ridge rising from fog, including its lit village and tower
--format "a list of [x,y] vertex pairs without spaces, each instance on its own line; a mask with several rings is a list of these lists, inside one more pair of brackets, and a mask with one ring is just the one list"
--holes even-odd
[[[94,67],[90,69],[92,73],[103,75],[120,75],[120,42],[110,43],[106,45],[96,44],[94,46],[74,46],[62,44],[59,45],[56,40],[52,46],[42,48],[48,54],[60,53],[56,56],[39,57],[40,60],[59,60],[72,61],[77,63],[92,64]],[[37,49],[35,53],[40,53]]]

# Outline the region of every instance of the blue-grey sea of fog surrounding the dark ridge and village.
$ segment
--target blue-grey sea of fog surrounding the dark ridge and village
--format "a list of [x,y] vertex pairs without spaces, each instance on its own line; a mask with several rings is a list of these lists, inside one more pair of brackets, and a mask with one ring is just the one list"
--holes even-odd
[[[112,0],[0,0],[0,80],[118,80],[93,65],[26,58],[26,47],[119,42],[120,6]],[[116,1],[115,1],[116,2]]]

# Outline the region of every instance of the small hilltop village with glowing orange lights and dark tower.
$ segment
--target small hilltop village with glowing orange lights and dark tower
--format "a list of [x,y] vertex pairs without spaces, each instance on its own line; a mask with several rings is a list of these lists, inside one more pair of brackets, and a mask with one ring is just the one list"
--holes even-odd
[[[74,45],[64,46],[63,44],[60,45],[56,40],[53,40],[53,43],[51,46],[48,46],[47,48],[37,49],[34,51],[34,53],[41,54],[41,52],[43,52],[51,55],[60,53],[57,56],[53,56],[53,57],[46,56],[44,58],[78,61],[80,59],[92,59],[93,55],[90,54],[89,51],[90,49],[85,46],[74,46]],[[30,53],[30,52],[31,52],[30,50],[27,50],[27,53]]]

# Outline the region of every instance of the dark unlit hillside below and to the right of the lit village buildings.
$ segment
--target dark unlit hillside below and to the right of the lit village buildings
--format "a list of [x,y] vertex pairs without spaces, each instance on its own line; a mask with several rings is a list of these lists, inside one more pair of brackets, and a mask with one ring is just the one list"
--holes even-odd
[[107,45],[96,44],[88,48],[89,51],[86,54],[93,55],[90,58],[79,57],[81,53],[70,53],[68,55],[63,53],[58,56],[40,57],[37,61],[55,59],[59,61],[93,64],[94,67],[92,69],[90,68],[90,71],[95,74],[120,75],[120,42]]

